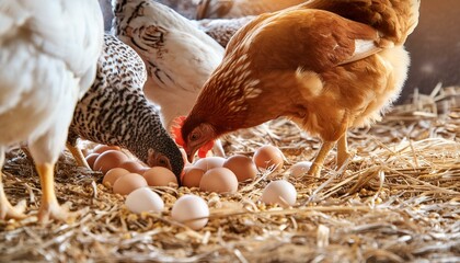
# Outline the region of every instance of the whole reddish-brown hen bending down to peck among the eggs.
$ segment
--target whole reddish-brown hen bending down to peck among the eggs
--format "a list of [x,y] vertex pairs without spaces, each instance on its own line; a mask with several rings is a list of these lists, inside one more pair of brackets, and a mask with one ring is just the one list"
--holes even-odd
[[287,116],[323,145],[309,171],[319,175],[346,132],[381,118],[403,87],[403,44],[419,0],[317,0],[262,14],[230,41],[179,130],[192,160],[215,138]]

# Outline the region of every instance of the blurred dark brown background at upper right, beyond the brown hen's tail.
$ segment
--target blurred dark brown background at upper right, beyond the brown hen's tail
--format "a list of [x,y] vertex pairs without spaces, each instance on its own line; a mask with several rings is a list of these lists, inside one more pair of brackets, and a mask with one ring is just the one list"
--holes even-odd
[[460,1],[422,0],[418,26],[406,47],[412,64],[400,103],[415,88],[429,94],[439,82],[460,85]]

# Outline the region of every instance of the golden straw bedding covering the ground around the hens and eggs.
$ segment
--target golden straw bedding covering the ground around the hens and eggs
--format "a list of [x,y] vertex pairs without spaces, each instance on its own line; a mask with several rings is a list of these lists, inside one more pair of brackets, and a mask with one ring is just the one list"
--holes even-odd
[[[335,171],[333,156],[321,178],[292,178],[288,168],[311,160],[320,144],[286,119],[225,139],[230,155],[251,156],[274,144],[287,162],[262,172],[237,194],[162,187],[162,214],[130,214],[124,197],[100,184],[101,174],[78,168],[66,153],[57,168],[61,204],[72,222],[36,224],[39,183],[21,150],[3,169],[12,203],[25,199],[22,221],[0,221],[0,262],[455,262],[460,261],[459,89],[438,87],[432,95],[395,107],[368,129],[349,132],[354,158]],[[263,187],[287,179],[298,191],[295,207],[258,202]],[[211,216],[200,231],[170,219],[174,201],[203,196]]]

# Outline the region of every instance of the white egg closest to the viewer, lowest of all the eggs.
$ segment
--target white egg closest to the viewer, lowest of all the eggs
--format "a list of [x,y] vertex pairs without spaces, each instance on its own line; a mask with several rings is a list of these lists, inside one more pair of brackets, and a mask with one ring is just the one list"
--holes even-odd
[[171,217],[194,230],[199,230],[208,222],[209,207],[199,196],[183,195],[174,203]]

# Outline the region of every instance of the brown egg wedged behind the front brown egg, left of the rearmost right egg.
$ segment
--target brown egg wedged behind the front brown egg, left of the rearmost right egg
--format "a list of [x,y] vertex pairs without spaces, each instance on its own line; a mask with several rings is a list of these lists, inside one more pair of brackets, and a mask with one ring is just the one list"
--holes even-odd
[[255,179],[257,175],[257,168],[255,167],[255,163],[246,156],[232,156],[227,159],[223,167],[230,169],[234,175],[237,175],[238,182]]

